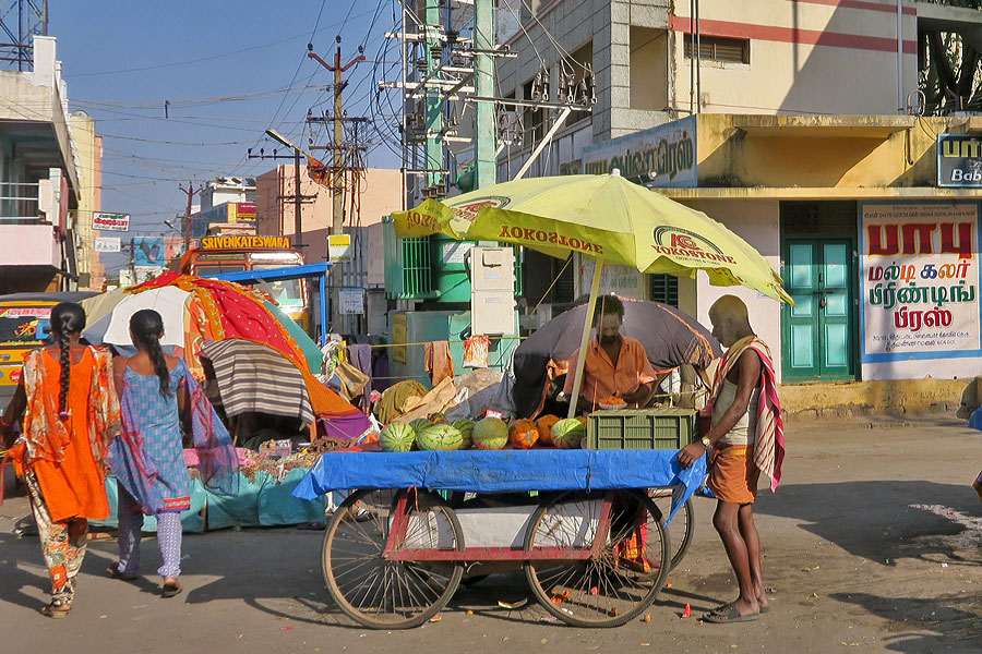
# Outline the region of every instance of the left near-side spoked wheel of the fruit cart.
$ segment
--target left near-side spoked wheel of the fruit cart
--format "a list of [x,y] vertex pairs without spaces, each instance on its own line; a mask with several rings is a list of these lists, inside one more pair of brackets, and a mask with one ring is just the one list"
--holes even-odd
[[454,511],[426,491],[359,491],[334,512],[324,534],[321,567],[337,606],[375,629],[418,627],[443,608],[460,583],[463,562],[393,561],[383,558],[397,501],[408,526],[402,547],[464,549]]

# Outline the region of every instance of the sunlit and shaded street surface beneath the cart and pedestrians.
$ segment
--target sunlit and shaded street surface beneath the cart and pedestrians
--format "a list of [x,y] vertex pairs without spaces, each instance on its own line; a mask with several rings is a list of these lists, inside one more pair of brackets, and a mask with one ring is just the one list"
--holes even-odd
[[[755,507],[773,610],[754,622],[709,625],[707,608],[735,596],[710,524],[696,532],[650,609],[651,621],[589,630],[549,621],[520,573],[460,586],[441,620],[372,631],[340,615],[324,590],[323,532],[292,528],[185,535],[185,591],[158,596],[159,552],[143,541],[144,577],[103,574],[115,541],[94,541],[72,613],[51,620],[36,538],[17,538],[27,512],[7,482],[0,507],[2,652],[980,652],[982,433],[948,416],[857,417],[788,426],[785,479]],[[13,496],[11,496],[11,494]],[[686,604],[693,617],[680,618]],[[472,613],[471,613],[472,611]]]

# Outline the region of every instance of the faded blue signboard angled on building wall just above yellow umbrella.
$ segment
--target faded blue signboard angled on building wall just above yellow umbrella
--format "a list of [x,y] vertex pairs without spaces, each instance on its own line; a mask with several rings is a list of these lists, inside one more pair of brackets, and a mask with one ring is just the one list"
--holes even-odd
[[583,148],[583,172],[614,168],[645,186],[696,186],[696,117],[690,116]]

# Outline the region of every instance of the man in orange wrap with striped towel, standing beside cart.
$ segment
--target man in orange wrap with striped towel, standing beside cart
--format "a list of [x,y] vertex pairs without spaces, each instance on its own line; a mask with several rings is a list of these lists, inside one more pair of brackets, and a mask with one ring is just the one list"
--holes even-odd
[[679,452],[679,463],[688,468],[709,452],[708,486],[718,499],[712,526],[740,585],[735,601],[705,619],[745,622],[769,610],[753,507],[761,473],[771,492],[781,479],[783,422],[770,350],[751,329],[746,305],[723,295],[709,308],[709,320],[712,336],[728,348],[712,380],[712,428]]

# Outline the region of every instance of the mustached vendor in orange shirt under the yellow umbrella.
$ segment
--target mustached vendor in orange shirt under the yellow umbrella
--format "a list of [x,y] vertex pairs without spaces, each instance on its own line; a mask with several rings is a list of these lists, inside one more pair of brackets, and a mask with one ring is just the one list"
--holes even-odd
[[[594,312],[595,338],[587,346],[586,362],[577,409],[594,411],[599,404],[625,404],[625,408],[644,407],[655,392],[657,375],[648,361],[645,347],[621,334],[624,322],[624,304],[615,295],[602,295]],[[570,356],[570,368],[563,395],[573,393],[574,371],[579,350]],[[611,401],[618,398],[616,401]]]

